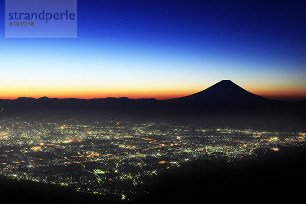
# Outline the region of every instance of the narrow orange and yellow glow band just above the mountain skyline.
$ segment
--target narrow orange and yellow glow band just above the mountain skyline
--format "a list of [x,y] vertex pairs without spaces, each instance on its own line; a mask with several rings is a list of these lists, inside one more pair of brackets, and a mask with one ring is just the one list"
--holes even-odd
[[[279,100],[305,100],[306,87],[303,86],[285,86],[285,85],[252,85],[239,84],[247,91],[270,99]],[[188,84],[187,86],[129,86],[126,87],[52,87],[52,86],[29,86],[29,87],[10,87],[0,92],[1,99],[16,99],[18,97],[32,97],[32,98],[107,98],[107,97],[127,97],[132,99],[138,98],[155,98],[158,100],[171,99],[177,97],[188,96],[199,91],[202,91],[210,85],[203,84]],[[163,88],[166,87],[166,88]],[[200,88],[199,88],[200,87]]]

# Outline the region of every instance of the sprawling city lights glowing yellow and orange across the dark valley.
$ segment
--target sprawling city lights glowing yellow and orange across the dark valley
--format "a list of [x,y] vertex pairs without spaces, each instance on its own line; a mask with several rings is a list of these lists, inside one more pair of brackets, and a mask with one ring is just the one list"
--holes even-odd
[[246,160],[305,143],[303,132],[2,118],[0,173],[129,200],[165,169],[203,159]]

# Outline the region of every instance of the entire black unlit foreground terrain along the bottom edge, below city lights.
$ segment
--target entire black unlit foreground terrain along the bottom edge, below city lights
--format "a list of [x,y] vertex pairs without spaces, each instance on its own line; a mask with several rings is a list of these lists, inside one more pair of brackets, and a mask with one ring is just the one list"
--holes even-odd
[[[115,197],[113,203],[203,203],[203,202],[288,202],[303,199],[305,147],[284,147],[279,152],[251,160],[198,160],[166,170],[158,176],[148,194],[134,200]],[[73,192],[29,181],[0,177],[4,203],[112,203],[107,196]],[[129,197],[130,195],[126,195]]]

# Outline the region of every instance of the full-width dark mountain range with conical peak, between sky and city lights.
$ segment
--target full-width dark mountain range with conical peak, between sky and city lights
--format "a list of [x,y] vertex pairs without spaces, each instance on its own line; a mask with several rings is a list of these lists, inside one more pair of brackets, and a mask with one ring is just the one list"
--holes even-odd
[[[130,121],[170,121],[233,125],[273,121],[273,125],[304,127],[306,102],[288,103],[252,94],[230,80],[181,98],[168,100],[103,98],[58,99],[42,97],[0,99],[0,117],[23,119],[73,118],[86,121],[117,118]],[[237,121],[237,122],[234,122]],[[254,122],[257,121],[257,122]]]

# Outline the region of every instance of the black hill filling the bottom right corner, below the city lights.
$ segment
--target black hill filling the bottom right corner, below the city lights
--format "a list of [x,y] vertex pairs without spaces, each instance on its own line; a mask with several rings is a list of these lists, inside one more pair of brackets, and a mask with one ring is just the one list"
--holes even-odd
[[155,191],[138,203],[297,202],[305,191],[305,156],[305,147],[284,147],[234,163],[189,162],[161,175]]

